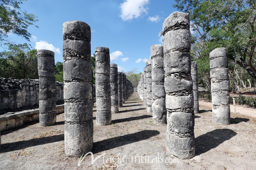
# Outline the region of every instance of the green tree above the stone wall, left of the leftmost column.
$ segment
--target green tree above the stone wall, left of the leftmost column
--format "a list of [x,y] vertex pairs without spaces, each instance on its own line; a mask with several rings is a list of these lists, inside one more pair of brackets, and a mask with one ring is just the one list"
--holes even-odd
[[28,44],[6,44],[9,51],[0,53],[0,77],[38,79],[37,50]]

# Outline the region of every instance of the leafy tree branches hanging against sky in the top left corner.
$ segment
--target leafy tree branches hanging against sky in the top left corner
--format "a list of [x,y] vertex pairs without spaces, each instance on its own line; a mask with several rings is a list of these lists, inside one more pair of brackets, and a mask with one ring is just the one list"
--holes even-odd
[[8,33],[16,34],[29,41],[31,34],[27,28],[38,20],[34,14],[20,10],[20,4],[23,1],[26,0],[0,0],[0,42],[9,42]]

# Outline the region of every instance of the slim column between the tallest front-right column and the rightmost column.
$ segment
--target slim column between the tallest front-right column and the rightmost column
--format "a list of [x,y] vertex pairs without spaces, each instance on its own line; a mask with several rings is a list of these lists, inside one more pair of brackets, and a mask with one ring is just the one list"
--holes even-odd
[[198,84],[197,84],[197,62],[191,62],[191,76],[193,81],[194,112],[199,113]]

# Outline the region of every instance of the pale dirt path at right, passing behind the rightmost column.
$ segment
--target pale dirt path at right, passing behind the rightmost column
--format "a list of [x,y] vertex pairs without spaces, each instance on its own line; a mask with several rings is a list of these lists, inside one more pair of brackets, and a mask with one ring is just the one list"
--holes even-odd
[[[199,105],[212,107],[211,101],[207,101],[207,100],[199,100]],[[235,112],[233,104],[230,104],[230,112],[232,113]],[[256,117],[256,108],[236,105],[236,112],[240,114]]]

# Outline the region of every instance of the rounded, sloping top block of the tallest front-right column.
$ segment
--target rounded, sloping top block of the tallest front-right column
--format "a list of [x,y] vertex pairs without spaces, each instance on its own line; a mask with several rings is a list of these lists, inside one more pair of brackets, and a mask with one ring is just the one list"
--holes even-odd
[[184,12],[173,12],[164,20],[163,34],[169,30],[177,30],[180,28],[189,29],[189,14]]

